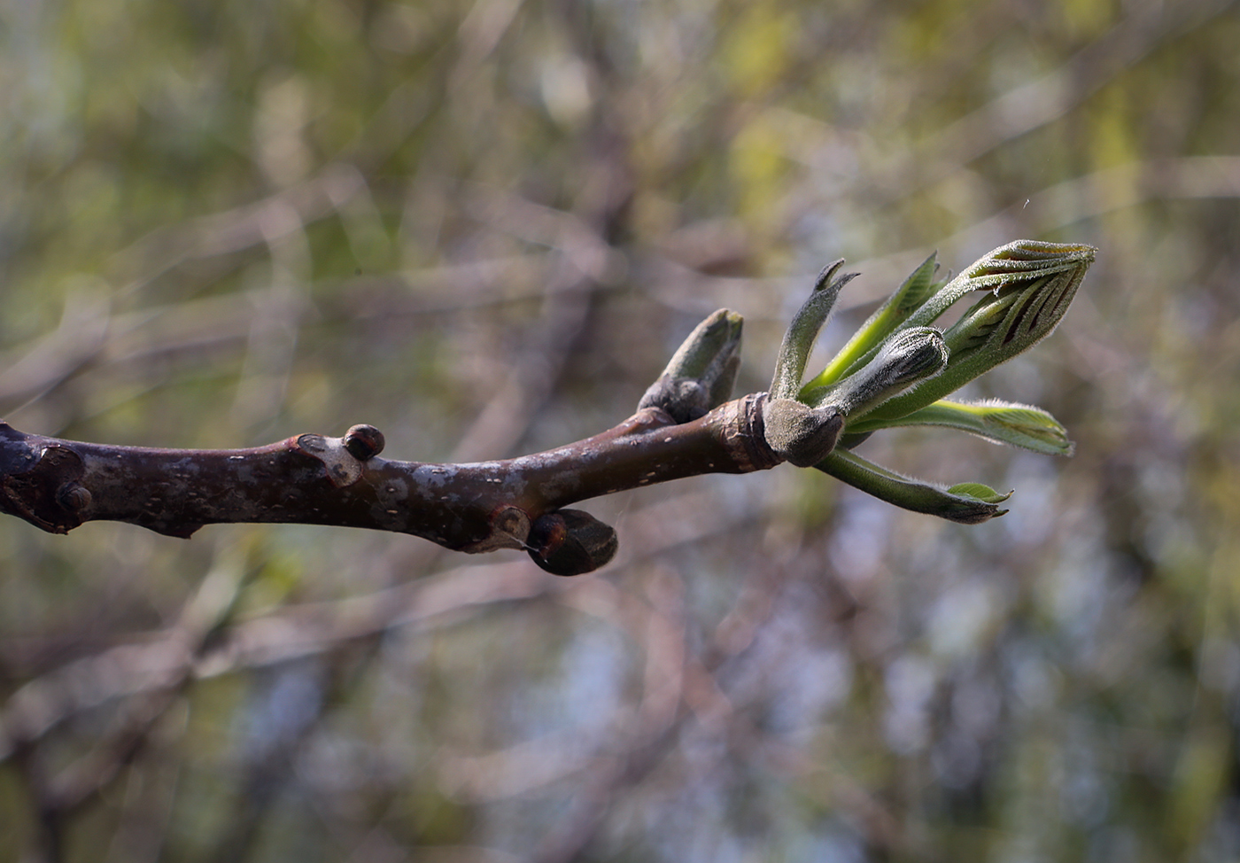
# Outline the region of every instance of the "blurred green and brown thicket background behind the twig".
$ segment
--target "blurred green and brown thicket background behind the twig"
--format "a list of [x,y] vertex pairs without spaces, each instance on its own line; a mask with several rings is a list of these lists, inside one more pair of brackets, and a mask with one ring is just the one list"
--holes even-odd
[[[1240,858],[1240,14],[1221,0],[0,0],[0,415],[476,460],[765,389],[930,252],[1100,248],[971,386],[962,527],[781,466],[587,505],[604,570],[0,520],[0,861]],[[817,371],[817,370],[815,370]]]

